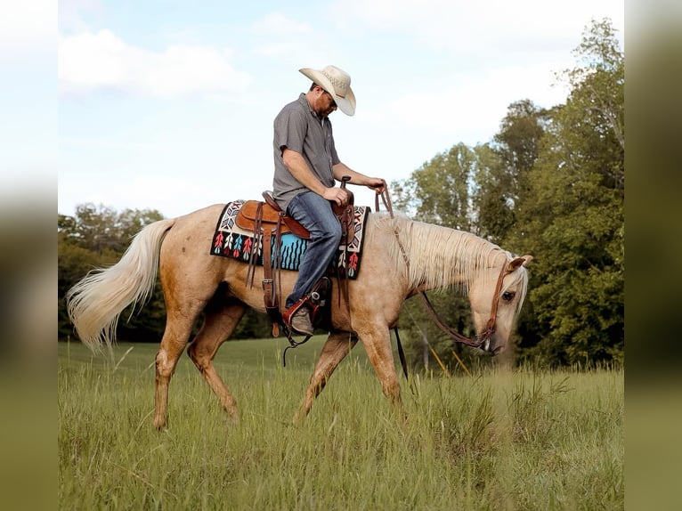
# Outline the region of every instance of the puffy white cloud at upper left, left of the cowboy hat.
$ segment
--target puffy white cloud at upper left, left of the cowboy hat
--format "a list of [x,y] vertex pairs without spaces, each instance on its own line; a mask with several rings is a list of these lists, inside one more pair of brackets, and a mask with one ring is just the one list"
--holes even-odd
[[233,69],[231,50],[170,45],[163,53],[127,45],[110,30],[61,37],[59,82],[63,94],[108,89],[158,97],[239,93],[251,82]]

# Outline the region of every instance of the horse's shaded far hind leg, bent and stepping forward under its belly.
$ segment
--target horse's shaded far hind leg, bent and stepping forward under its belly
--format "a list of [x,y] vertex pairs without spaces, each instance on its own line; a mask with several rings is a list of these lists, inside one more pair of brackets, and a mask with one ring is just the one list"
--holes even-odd
[[204,325],[187,350],[191,361],[218,397],[223,410],[227,411],[235,422],[239,419],[237,401],[225,386],[223,378],[215,371],[213,358],[223,341],[230,337],[246,310],[246,305],[237,300],[222,304],[209,304]]

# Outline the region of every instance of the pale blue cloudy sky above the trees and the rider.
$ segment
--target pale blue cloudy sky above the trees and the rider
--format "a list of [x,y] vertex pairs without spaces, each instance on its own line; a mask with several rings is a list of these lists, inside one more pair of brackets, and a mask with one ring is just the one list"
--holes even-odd
[[[402,180],[490,142],[514,101],[563,103],[556,74],[616,0],[61,0],[58,210],[92,202],[166,217],[272,189],[272,121],[328,64],[352,77],[330,120],[354,170]],[[54,83],[56,82],[56,83]],[[353,187],[355,203],[373,205]]]

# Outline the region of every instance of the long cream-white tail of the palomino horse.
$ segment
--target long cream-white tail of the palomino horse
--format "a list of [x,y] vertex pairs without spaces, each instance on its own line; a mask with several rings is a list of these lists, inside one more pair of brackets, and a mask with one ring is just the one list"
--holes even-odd
[[116,341],[118,316],[144,304],[154,288],[161,241],[175,219],[150,223],[133,239],[117,264],[98,268],[67,292],[67,311],[78,337],[93,351]]

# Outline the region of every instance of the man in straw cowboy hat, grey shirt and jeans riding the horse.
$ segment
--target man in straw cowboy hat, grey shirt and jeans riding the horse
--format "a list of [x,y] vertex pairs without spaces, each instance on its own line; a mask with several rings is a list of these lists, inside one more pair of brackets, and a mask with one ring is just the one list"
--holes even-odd
[[[345,207],[350,199],[345,189],[335,187],[336,181],[348,175],[349,183],[367,186],[377,193],[384,191],[386,182],[355,172],[338,158],[329,114],[337,109],[348,116],[355,113],[351,77],[335,66],[299,70],[313,80],[313,85],[298,100],[288,103],[274,120],[272,196],[282,211],[310,231],[284,314],[291,328],[310,336],[310,311],[300,304],[327,272],[341,240],[341,224],[331,203]],[[296,307],[298,310],[291,314]]]

